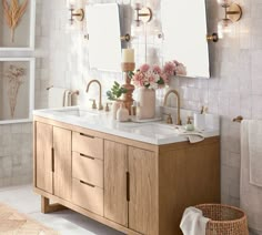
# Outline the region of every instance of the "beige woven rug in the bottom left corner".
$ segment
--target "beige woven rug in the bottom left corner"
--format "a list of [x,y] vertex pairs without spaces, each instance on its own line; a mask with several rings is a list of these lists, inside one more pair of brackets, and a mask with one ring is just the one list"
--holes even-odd
[[0,203],[0,235],[59,235],[59,233]]

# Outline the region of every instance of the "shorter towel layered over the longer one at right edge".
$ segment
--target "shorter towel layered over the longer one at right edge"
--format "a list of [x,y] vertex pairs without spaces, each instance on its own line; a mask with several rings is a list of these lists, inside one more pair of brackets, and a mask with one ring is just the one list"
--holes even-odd
[[250,183],[262,187],[262,121],[250,120],[248,122]]

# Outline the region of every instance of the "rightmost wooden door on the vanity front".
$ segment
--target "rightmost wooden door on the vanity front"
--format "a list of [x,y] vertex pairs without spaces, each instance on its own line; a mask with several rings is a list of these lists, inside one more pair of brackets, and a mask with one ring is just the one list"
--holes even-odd
[[158,171],[153,152],[129,147],[129,227],[141,234],[158,234]]

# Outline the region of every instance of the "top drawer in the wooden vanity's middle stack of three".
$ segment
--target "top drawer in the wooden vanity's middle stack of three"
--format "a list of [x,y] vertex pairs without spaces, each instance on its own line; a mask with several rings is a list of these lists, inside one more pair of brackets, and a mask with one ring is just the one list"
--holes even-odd
[[103,140],[92,135],[73,132],[72,151],[103,160]]

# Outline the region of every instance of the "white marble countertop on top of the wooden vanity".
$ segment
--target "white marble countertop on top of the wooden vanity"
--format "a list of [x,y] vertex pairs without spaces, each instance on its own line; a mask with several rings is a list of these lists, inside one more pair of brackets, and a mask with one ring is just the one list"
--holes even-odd
[[[36,110],[33,115],[155,145],[188,141],[187,136],[179,134],[174,125],[163,122],[120,123],[112,120],[110,112],[80,109],[79,106]],[[202,132],[204,137],[218,136],[220,133],[219,117],[210,114],[209,122],[210,120],[211,125]]]

